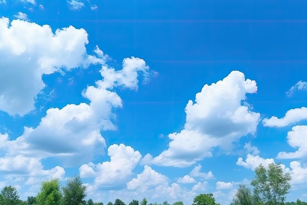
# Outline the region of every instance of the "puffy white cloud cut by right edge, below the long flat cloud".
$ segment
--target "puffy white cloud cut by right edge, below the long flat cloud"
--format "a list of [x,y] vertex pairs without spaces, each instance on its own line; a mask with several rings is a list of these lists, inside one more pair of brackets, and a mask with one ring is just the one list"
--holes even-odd
[[284,152],[278,153],[277,158],[279,159],[294,159],[294,158],[306,158],[307,156],[307,126],[298,125],[292,127],[292,131],[288,132],[287,135],[288,144],[298,150],[295,152]]

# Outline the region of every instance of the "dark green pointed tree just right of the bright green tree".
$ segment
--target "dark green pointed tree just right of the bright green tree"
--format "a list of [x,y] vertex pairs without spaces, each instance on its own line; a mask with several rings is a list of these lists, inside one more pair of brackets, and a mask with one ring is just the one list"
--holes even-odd
[[67,180],[66,186],[62,187],[63,205],[84,204],[86,186],[82,184],[80,176],[76,175]]

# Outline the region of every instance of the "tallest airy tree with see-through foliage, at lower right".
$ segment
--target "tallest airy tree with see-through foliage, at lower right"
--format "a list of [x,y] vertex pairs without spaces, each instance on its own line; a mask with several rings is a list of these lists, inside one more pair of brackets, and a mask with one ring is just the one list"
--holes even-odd
[[256,177],[252,179],[254,195],[263,203],[269,205],[282,204],[285,195],[289,193],[291,176],[283,174],[281,164],[271,163],[267,168],[261,164],[255,170]]

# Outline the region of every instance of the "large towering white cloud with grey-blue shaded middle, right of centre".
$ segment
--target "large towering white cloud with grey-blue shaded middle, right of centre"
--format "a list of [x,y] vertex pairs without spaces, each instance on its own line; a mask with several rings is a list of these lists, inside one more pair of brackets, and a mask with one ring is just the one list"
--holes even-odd
[[169,134],[168,149],[153,158],[163,166],[187,167],[212,156],[211,148],[230,148],[240,137],[253,134],[260,114],[249,110],[246,93],[255,93],[256,82],[245,79],[243,73],[232,71],[222,81],[205,85],[196,94],[195,103],[185,107],[186,123],[179,133]]

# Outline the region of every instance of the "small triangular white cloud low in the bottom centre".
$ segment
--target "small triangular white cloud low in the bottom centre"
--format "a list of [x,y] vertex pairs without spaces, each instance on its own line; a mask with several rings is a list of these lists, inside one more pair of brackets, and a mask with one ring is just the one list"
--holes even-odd
[[128,189],[146,190],[148,187],[167,183],[168,178],[145,165],[144,171],[127,183]]

